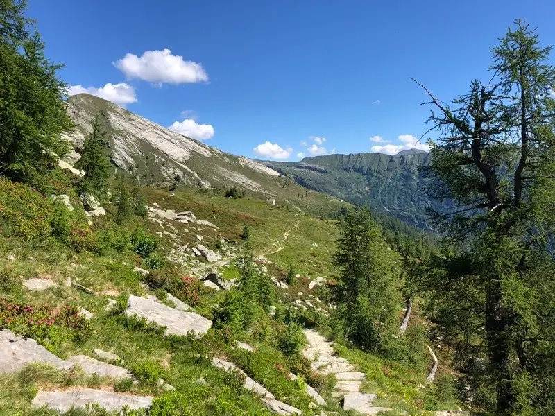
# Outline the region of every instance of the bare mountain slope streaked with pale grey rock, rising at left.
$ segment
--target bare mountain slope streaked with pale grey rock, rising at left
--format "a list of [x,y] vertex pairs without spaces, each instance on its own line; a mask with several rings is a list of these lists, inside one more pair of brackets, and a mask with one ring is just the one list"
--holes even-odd
[[89,94],[67,99],[74,132],[67,135],[79,150],[94,117],[105,115],[112,163],[139,177],[142,184],[171,184],[228,189],[238,186],[281,205],[318,214],[339,209],[338,202],[281,177],[275,170],[182,136],[110,101]]

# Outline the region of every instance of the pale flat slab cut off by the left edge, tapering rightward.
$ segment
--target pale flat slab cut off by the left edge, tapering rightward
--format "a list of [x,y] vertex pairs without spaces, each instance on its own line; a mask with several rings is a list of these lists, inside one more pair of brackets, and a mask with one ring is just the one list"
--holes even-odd
[[18,372],[31,363],[49,364],[58,370],[69,370],[74,366],[31,338],[22,338],[8,329],[0,330],[0,373]]

